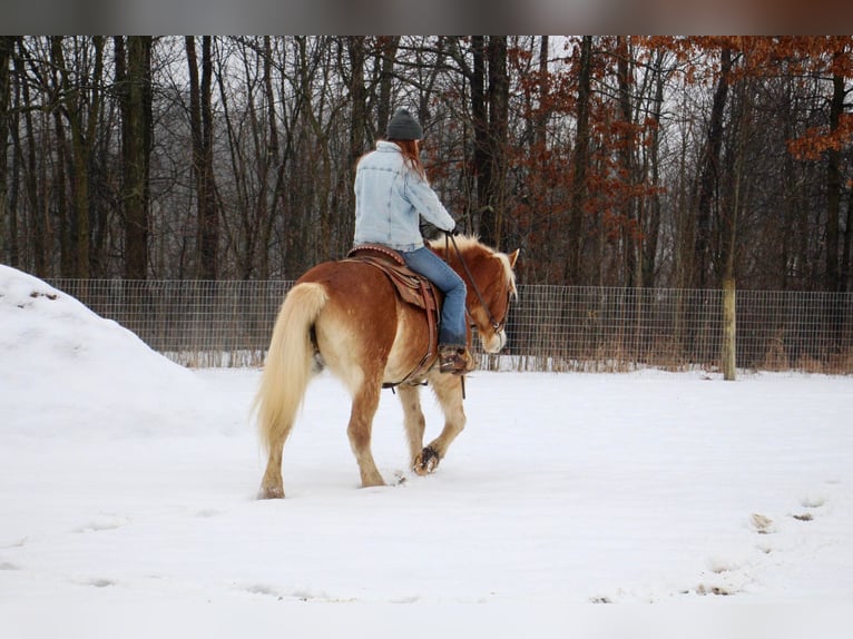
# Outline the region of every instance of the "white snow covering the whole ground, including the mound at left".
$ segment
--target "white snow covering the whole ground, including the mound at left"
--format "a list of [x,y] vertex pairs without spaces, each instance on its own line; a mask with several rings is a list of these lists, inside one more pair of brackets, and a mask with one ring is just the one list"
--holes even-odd
[[281,501],[258,381],[0,266],[0,637],[849,636],[849,377],[475,373],[426,478],[386,391],[357,489],[321,376]]

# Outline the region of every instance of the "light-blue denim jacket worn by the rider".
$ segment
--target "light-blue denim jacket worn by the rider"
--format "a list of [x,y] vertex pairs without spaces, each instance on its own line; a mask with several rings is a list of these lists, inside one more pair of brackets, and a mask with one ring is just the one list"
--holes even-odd
[[455,225],[426,180],[403,164],[400,147],[380,140],[355,170],[355,244],[421,248],[420,216],[442,230]]

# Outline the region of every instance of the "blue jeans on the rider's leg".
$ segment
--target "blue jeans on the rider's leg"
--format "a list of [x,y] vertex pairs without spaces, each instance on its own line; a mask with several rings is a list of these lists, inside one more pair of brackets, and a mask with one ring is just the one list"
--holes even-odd
[[401,253],[406,266],[426,277],[442,293],[441,326],[439,344],[444,346],[465,345],[465,283],[448,263],[425,246]]

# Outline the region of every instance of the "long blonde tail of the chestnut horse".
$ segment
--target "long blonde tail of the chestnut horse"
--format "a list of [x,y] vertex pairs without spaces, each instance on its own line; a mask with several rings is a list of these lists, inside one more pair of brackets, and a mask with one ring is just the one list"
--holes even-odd
[[253,402],[261,441],[267,451],[284,445],[302,405],[314,358],[311,328],[327,299],[322,284],[297,284],[278,311],[261,387]]

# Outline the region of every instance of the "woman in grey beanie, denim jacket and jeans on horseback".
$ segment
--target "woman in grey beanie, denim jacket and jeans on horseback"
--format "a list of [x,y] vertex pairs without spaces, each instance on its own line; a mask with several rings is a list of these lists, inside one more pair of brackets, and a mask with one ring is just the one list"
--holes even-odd
[[471,368],[465,348],[465,283],[423,243],[420,217],[445,233],[455,223],[426,181],[419,141],[423,128],[408,110],[391,118],[385,140],[359,160],[355,170],[355,245],[382,244],[444,293],[439,328],[439,370],[463,375]]

